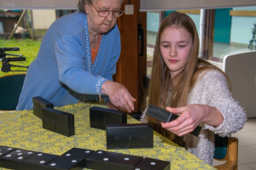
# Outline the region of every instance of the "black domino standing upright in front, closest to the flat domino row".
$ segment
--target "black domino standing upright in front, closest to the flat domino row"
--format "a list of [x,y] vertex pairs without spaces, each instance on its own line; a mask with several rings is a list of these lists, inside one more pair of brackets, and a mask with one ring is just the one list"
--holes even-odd
[[152,123],[108,124],[106,133],[107,150],[154,147]]

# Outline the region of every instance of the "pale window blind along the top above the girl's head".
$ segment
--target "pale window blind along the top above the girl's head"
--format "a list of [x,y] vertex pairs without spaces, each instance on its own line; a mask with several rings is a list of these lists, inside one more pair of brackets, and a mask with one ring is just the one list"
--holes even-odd
[[140,11],[254,6],[256,0],[140,0]]

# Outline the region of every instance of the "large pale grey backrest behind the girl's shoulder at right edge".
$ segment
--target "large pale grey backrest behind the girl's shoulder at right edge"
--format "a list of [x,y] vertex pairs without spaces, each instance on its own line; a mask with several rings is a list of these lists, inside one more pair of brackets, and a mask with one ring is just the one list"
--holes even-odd
[[256,51],[226,55],[224,72],[230,78],[233,98],[247,117],[256,116]]

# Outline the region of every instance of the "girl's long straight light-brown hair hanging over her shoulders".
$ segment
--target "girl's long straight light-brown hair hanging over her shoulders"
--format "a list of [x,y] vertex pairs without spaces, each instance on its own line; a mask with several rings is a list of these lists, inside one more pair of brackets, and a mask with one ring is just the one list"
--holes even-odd
[[[160,53],[161,34],[170,26],[176,26],[177,28],[183,28],[188,31],[193,42],[187,64],[184,66],[183,70],[177,73],[177,75],[173,78],[170,76],[170,71]],[[208,69],[220,71],[216,66],[210,64],[206,60],[198,58],[199,44],[199,37],[196,31],[195,23],[187,14],[173,12],[172,14],[169,14],[165,20],[163,20],[156,37],[151,78],[148,93],[146,94],[148,95],[148,100],[147,102],[144,102],[146,105],[153,104],[158,105],[161,108],[165,108],[167,88],[171,86],[172,102],[170,106],[185,106],[187,105],[189,91],[195,86],[201,71]],[[173,85],[173,81],[175,81],[175,85]],[[154,123],[155,131],[162,133],[167,137],[170,136],[170,133],[166,133],[166,130],[160,126],[159,121],[150,116],[147,116],[147,119],[148,122]]]

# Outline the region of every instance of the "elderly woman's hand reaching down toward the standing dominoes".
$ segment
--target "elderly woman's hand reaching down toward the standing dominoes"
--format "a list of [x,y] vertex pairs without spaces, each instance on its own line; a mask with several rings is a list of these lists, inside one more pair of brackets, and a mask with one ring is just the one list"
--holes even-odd
[[128,90],[118,82],[106,81],[102,84],[102,94],[108,95],[110,101],[121,111],[131,112],[136,102]]

